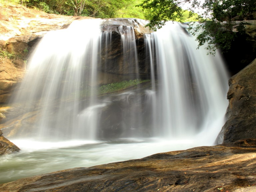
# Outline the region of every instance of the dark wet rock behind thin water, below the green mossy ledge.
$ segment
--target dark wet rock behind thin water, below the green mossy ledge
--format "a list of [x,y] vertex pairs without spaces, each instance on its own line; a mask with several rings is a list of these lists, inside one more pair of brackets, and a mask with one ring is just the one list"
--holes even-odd
[[147,98],[151,82],[145,82],[128,89],[104,95],[106,107],[100,114],[100,138],[120,138],[136,135],[150,137],[152,103]]

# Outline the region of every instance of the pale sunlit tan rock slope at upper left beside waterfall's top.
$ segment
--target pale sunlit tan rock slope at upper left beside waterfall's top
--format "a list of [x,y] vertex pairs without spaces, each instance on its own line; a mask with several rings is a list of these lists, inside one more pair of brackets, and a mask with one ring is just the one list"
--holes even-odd
[[6,41],[15,36],[42,35],[46,31],[65,28],[73,20],[81,18],[47,14],[21,5],[0,7],[0,40]]

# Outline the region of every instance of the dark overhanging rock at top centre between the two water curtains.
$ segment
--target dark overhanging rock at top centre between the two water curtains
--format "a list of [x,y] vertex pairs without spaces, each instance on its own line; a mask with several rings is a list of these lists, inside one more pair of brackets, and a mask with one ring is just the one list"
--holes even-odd
[[[102,62],[98,70],[110,74],[123,75],[124,78],[135,79],[136,75],[147,75],[150,73],[150,64],[145,62],[145,44],[143,35],[149,33],[149,30],[141,30],[143,24],[137,20],[132,19],[106,19],[102,23],[102,30],[104,32],[102,37],[101,59]],[[135,58],[134,49],[128,49],[125,55],[130,57],[124,58],[124,48],[121,41],[120,26],[124,29],[132,27],[134,29],[134,45],[136,46],[138,60]],[[105,36],[108,34],[108,36]],[[110,37],[111,34],[111,37]],[[109,39],[112,39],[109,44]],[[132,42],[132,41],[130,41]],[[131,45],[130,45],[131,46]],[[131,65],[130,63],[135,63]],[[137,63],[137,66],[136,66]]]

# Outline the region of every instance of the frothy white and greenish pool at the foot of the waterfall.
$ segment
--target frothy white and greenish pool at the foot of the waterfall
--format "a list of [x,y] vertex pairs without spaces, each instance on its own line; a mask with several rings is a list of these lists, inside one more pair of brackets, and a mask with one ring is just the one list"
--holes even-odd
[[137,159],[159,152],[182,150],[200,145],[199,140],[163,140],[125,138],[112,142],[72,140],[40,142],[12,140],[20,147],[19,153],[0,157],[0,183],[24,177],[75,167]]

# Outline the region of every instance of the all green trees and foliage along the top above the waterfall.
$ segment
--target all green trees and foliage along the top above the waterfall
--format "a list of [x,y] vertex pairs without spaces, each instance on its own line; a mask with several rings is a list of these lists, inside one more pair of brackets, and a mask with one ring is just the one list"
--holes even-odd
[[[243,20],[256,17],[253,13],[256,2],[252,0],[205,0],[204,3],[197,0],[0,0],[1,4],[22,4],[47,13],[70,16],[147,19],[152,29],[161,28],[167,20],[199,21],[204,24],[190,23],[188,29],[197,36],[198,48],[207,44],[210,54],[215,54],[217,48],[228,51],[236,37],[245,34],[249,23]],[[197,10],[203,10],[203,13],[196,14]],[[241,22],[234,30],[238,20]]]

